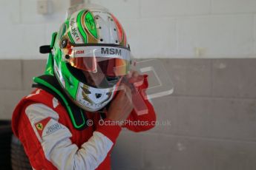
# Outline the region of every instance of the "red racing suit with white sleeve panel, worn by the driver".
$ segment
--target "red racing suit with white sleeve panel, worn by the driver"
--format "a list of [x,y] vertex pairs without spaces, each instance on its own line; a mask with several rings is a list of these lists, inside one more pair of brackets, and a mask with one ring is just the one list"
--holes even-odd
[[[146,78],[142,86],[148,87]],[[133,132],[154,127],[154,108],[148,100],[145,104],[148,114],[137,115],[133,110],[127,120],[147,123],[123,127]],[[35,89],[19,102],[13,112],[13,132],[21,140],[33,169],[111,169],[111,149],[122,128],[109,126],[109,120],[103,120],[97,112],[85,114],[92,126],[77,130],[65,107],[43,89]]]

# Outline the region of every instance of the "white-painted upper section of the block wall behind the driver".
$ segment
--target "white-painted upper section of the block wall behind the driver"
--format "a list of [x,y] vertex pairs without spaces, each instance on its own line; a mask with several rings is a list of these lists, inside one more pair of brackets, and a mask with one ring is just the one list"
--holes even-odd
[[[37,0],[0,1],[0,58],[45,58],[38,48],[50,43],[69,6],[68,0],[49,1],[54,13],[47,16],[37,13]],[[137,58],[255,58],[255,0],[91,2],[119,18]]]

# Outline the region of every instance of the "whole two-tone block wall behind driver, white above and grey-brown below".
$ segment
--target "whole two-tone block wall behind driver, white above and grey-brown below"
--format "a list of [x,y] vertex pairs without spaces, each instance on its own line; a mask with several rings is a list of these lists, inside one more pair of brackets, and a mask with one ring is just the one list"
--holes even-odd
[[[255,170],[256,1],[91,1],[119,18],[134,56],[160,58],[175,85],[173,95],[153,100],[158,120],[171,126],[123,130],[114,169]],[[42,74],[47,56],[39,46],[69,6],[52,0],[55,12],[41,16],[36,2],[0,1],[0,119],[11,118]]]

